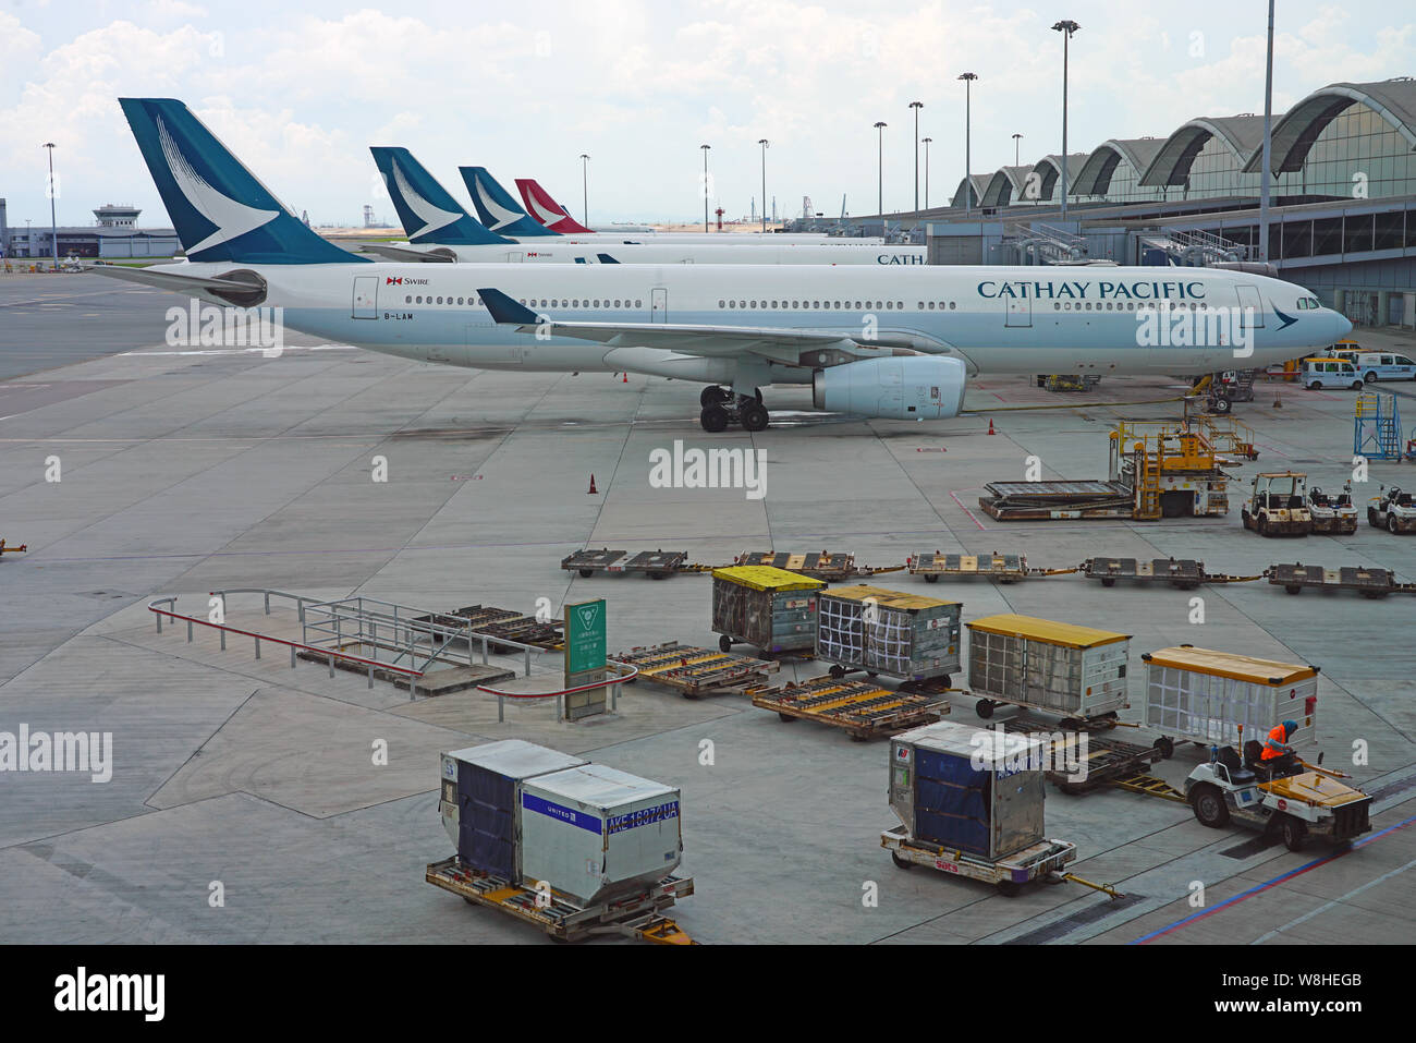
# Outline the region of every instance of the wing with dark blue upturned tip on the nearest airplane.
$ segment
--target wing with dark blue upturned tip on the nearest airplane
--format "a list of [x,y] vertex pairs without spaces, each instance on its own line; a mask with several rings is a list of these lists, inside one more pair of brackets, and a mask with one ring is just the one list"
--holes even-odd
[[775,326],[707,326],[688,323],[613,323],[541,320],[525,305],[498,289],[479,289],[481,303],[498,325],[515,326],[518,333],[595,340],[610,347],[661,347],[684,354],[736,356],[753,353],[787,364],[800,364],[803,350],[835,349],[854,356],[913,354],[898,347],[869,347],[840,333],[794,330]]

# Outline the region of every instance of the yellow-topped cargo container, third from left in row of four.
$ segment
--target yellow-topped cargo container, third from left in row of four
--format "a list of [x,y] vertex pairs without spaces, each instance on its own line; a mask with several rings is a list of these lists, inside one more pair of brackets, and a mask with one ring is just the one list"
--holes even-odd
[[1124,710],[1130,635],[1029,615],[990,615],[969,626],[969,687],[980,717],[997,703],[1075,720]]

